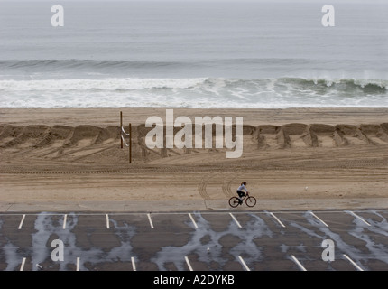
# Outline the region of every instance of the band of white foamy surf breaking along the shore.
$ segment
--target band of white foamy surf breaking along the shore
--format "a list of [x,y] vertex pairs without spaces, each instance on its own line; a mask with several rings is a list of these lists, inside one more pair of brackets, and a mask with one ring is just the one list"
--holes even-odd
[[[313,79],[292,78],[0,80],[0,107],[388,107],[386,80],[316,82],[322,80],[333,88],[322,89]],[[337,86],[337,81],[344,85]],[[363,91],[368,84],[374,87]]]

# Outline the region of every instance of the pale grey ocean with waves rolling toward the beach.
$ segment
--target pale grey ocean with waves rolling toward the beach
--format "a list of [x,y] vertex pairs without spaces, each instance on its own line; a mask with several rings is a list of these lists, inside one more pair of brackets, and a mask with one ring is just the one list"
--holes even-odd
[[0,107],[388,107],[388,4],[0,0]]

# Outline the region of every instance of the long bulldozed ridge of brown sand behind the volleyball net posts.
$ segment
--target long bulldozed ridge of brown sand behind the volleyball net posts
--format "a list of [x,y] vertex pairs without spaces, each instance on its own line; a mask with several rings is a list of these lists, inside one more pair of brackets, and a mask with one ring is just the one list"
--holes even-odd
[[[181,128],[174,128],[174,135]],[[191,127],[195,132],[195,126]],[[129,127],[125,126],[125,131]],[[152,127],[132,126],[132,160],[134,163],[152,163],[170,157],[190,158],[203,163],[208,153],[225,153],[226,148],[216,148],[216,127],[212,129],[212,147],[202,148],[153,148],[145,144],[145,136]],[[166,144],[166,127],[163,127]],[[233,135],[236,127],[232,128]],[[126,163],[128,149],[120,149],[118,126],[0,126],[1,161],[11,159],[41,159],[57,162]],[[203,135],[205,127],[203,126]],[[346,147],[351,145],[388,144],[388,124],[362,124],[360,126],[339,124],[291,123],[283,126],[243,126],[244,154],[259,154],[263,150]],[[203,136],[203,139],[205,136]],[[184,138],[183,138],[184,140]],[[125,135],[125,142],[129,138]],[[197,154],[192,156],[192,154]],[[243,154],[243,155],[244,155]]]

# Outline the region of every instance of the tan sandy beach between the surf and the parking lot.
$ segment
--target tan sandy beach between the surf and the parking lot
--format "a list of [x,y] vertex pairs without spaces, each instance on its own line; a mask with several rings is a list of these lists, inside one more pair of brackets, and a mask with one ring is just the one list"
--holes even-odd
[[[120,111],[125,130],[132,126],[131,163]],[[1,108],[0,210],[229,210],[243,181],[254,210],[388,204],[387,108],[173,111],[244,117],[242,156],[149,149],[144,123],[164,119],[165,108]]]

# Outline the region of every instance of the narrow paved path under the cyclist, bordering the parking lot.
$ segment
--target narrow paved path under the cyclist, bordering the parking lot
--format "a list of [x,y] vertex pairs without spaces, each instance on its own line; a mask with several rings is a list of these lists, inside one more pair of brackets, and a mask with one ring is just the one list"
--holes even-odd
[[13,203],[0,201],[0,212],[41,212],[41,211],[104,211],[104,212],[159,212],[159,211],[197,211],[197,210],[364,210],[387,209],[388,198],[353,198],[353,199],[257,199],[254,208],[245,204],[236,209],[228,205],[228,200],[131,200],[131,201],[48,201]]

